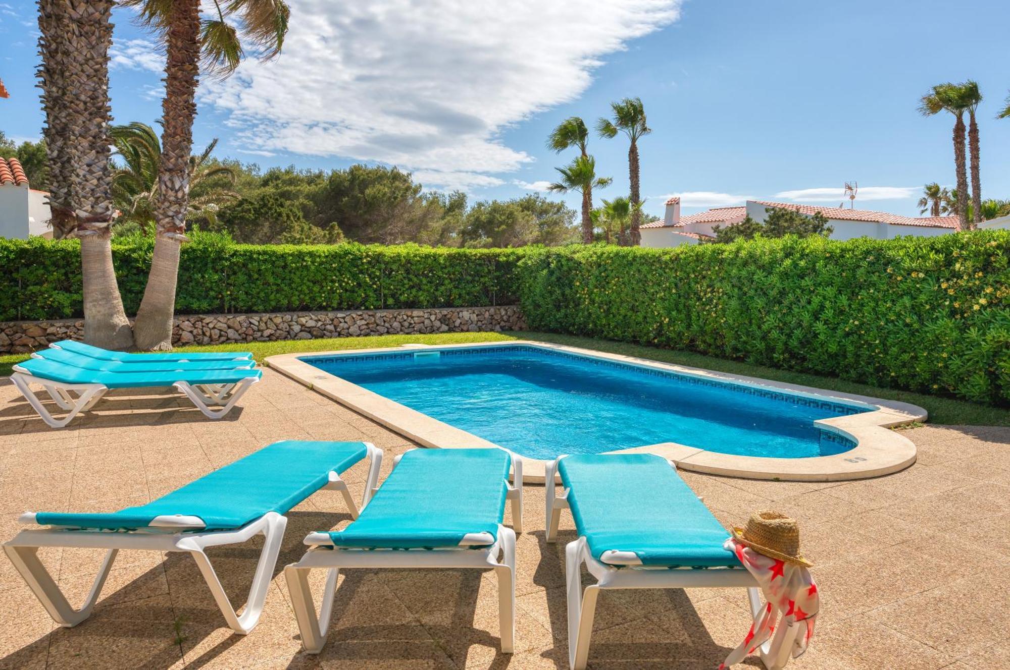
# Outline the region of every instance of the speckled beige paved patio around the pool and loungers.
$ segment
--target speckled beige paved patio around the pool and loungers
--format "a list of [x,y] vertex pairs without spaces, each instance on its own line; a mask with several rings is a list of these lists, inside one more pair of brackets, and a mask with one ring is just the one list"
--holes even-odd
[[[767,508],[800,520],[823,601],[810,651],[790,667],[1010,667],[1010,429],[926,426],[906,435],[918,462],[879,479],[786,483],[684,473],[727,526]],[[0,541],[16,533],[25,510],[142,504],[286,438],[372,441],[389,456],[387,472],[392,455],[412,446],[271,370],[222,421],[206,420],[173,393],[115,392],[63,430],[45,427],[3,382]],[[364,477],[364,464],[347,473],[356,495]],[[559,543],[545,544],[543,488],[524,492],[514,655],[497,653],[491,573],[452,570],[342,575],[329,643],[318,657],[302,653],[280,568],[301,556],[306,533],[349,521],[338,493],[324,491],[290,515],[263,619],[246,637],[224,627],[188,556],[121,553],[95,613],[75,629],[56,627],[0,557],[0,667],[565,668],[571,517],[563,518]],[[100,552],[40,553],[83,599]],[[259,547],[208,553],[240,602]],[[733,590],[603,593],[591,667],[712,670],[746,633],[745,605],[743,591]]]

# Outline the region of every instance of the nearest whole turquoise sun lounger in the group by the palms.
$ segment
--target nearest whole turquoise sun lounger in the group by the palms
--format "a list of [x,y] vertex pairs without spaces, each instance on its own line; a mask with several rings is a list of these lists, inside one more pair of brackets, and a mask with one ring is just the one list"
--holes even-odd
[[[230,370],[167,370],[120,372],[89,370],[44,358],[30,358],[14,365],[11,382],[46,424],[63,428],[79,413],[90,410],[110,388],[175,386],[186,394],[210,419],[220,419],[235,406],[263,372],[242,368]],[[39,402],[30,384],[38,384],[67,415],[57,419]],[[212,410],[210,406],[220,406]]]

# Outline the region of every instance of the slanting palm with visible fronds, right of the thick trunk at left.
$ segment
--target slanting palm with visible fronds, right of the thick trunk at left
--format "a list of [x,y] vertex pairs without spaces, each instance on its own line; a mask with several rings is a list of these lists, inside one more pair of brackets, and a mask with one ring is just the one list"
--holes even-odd
[[166,44],[155,251],[136,313],[134,337],[138,348],[170,349],[179,247],[186,240],[190,153],[200,72],[227,77],[241,63],[243,40],[227,18],[237,19],[244,41],[258,49],[261,59],[280,53],[290,9],[283,0],[211,0],[216,18],[201,21],[200,0],[122,0],[120,4],[137,7],[141,23]]

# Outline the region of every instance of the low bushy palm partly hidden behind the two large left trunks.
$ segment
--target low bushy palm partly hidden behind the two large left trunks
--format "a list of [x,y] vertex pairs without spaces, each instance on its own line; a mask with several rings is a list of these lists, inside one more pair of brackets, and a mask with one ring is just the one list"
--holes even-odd
[[[122,160],[112,175],[112,199],[122,212],[121,220],[132,222],[143,230],[155,220],[155,203],[158,200],[158,166],[162,154],[161,141],[150,126],[134,121],[128,125],[112,126],[110,131],[116,155]],[[217,139],[199,155],[189,159],[190,191],[203,191],[199,197],[189,197],[187,220],[196,217],[213,218],[220,205],[238,199],[238,194],[223,188],[200,189],[208,180],[223,178],[224,184],[233,184],[235,173],[231,167],[209,162],[217,146]],[[217,184],[211,183],[214,187]]]

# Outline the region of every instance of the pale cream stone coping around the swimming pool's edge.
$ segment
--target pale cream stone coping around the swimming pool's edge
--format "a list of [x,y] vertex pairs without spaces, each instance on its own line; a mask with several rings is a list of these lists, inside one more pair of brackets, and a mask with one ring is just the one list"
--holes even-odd
[[[268,357],[266,364],[295,381],[308,386],[312,390],[336,401],[340,405],[368,417],[422,446],[442,449],[496,448],[498,445],[493,442],[489,442],[472,433],[421,414],[416,410],[400,405],[363,386],[341,379],[301,360],[301,358],[394,353],[417,349],[438,350],[458,349],[462,347],[516,345],[552,349],[635,366],[670,370],[687,376],[710,378],[734,384],[777,389],[794,395],[831,399],[848,404],[855,403],[876,408],[861,414],[820,419],[815,422],[823,430],[847,437],[855,442],[855,446],[852,449],[831,456],[811,456],[808,458],[738,456],[689,447],[675,442],[643,445],[607,452],[654,453],[672,460],[679,468],[707,474],[783,481],[842,481],[890,474],[910,466],[915,462],[916,458],[915,445],[912,444],[911,440],[891,430],[891,428],[912,422],[925,421],[928,416],[924,409],[916,405],[898,401],[889,401],[855,394],[843,394],[812,386],[801,386],[762,379],[760,377],[727,374],[699,367],[664,363],[647,358],[637,358],[635,356],[625,356],[593,349],[582,349],[531,340],[479,342],[473,344],[404,344],[398,347],[285,353]],[[523,480],[542,483],[546,461],[526,456],[522,458]]]

